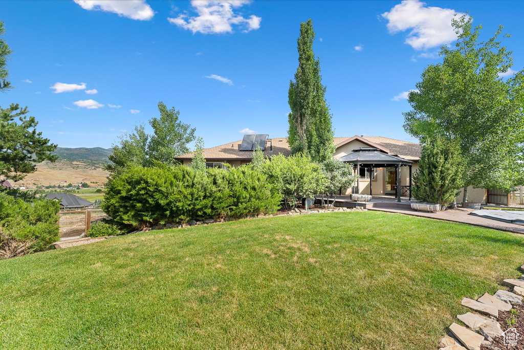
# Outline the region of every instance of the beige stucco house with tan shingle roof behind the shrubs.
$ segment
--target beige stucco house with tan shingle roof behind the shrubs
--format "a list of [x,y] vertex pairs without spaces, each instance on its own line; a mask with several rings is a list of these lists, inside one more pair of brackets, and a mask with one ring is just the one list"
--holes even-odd
[[[250,144],[245,147],[246,137]],[[291,148],[288,145],[286,137],[267,138],[267,135],[245,135],[243,140],[233,141],[224,145],[204,148],[202,150],[203,157],[206,161],[206,166],[209,168],[223,167],[224,164],[231,164],[234,167],[239,167],[248,164],[253,159],[253,148],[259,145],[263,149],[264,156],[271,158],[271,156],[282,154],[284,156],[291,155]],[[408,141],[396,140],[387,137],[335,137],[333,139],[335,145],[334,158],[342,158],[354,153],[354,150],[359,148],[369,149],[375,148],[380,154],[386,154],[392,157],[401,158],[410,163],[412,174],[418,169],[418,161],[420,157],[420,144]],[[184,154],[175,159],[181,161],[184,165],[191,164],[192,153]],[[347,158],[347,157],[346,157]],[[377,161],[377,163],[379,163]],[[359,167],[359,191],[356,185],[353,188],[345,189],[342,194],[362,193],[369,194],[372,190],[373,195],[395,195],[397,189],[397,172],[396,166],[384,166],[385,162],[379,163],[381,167],[373,169],[369,167]],[[400,167],[400,185],[402,195],[409,195],[409,168],[408,166]],[[355,166],[356,171],[356,166]],[[468,198],[471,202],[486,203],[486,190],[484,189],[468,189]],[[457,202],[462,202],[462,197],[457,198]]]

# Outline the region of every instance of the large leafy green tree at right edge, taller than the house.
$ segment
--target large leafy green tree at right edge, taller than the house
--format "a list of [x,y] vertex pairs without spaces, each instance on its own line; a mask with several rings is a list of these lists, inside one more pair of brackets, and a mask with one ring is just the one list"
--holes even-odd
[[[429,65],[417,90],[409,94],[412,111],[404,128],[420,140],[440,136],[458,144],[465,160],[463,185],[508,191],[523,182],[524,70],[505,79],[512,52],[501,46],[499,26],[479,41],[481,25],[453,19],[455,48],[442,47],[443,62]],[[509,35],[505,35],[509,37]]]

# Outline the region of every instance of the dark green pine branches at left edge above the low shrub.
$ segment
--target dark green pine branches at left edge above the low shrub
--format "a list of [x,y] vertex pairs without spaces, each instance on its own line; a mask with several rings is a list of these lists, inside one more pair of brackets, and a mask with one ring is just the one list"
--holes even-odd
[[38,122],[27,113],[27,107],[18,104],[0,107],[0,176],[14,181],[34,172],[37,163],[58,158],[51,154],[57,145],[49,144],[49,139],[37,132]]

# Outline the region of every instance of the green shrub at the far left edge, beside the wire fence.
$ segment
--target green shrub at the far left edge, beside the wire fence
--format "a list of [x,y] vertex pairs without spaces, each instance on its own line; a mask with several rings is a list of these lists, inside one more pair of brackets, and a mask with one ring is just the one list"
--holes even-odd
[[59,239],[56,201],[24,202],[0,194],[0,248],[3,244],[25,244],[25,253],[46,250]]

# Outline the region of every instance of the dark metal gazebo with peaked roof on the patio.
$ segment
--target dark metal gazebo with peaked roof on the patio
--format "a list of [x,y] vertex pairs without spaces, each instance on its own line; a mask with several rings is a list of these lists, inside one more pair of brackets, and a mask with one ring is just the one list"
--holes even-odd
[[[411,160],[400,158],[396,155],[387,154],[385,151],[374,147],[361,147],[354,149],[352,153],[339,158],[340,161],[352,163],[360,173],[360,168],[370,168],[373,173],[375,168],[396,167],[397,185],[396,198],[400,202],[400,167],[409,167],[409,200],[411,200]],[[372,182],[369,181],[369,194],[373,195]],[[357,193],[360,193],[360,181],[357,177]]]

